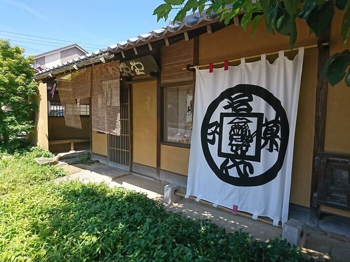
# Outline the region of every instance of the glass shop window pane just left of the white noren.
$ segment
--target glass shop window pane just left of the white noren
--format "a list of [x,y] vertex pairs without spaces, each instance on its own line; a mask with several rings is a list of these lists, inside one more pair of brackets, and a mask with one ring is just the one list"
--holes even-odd
[[192,86],[164,88],[163,141],[191,143],[192,97]]

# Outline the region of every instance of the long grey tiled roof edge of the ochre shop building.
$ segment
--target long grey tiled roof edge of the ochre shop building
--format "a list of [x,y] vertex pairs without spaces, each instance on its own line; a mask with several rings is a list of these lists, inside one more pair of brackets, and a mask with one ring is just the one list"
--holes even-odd
[[112,54],[112,53],[121,52],[122,50],[126,49],[127,47],[130,48],[130,46],[134,46],[140,42],[143,44],[146,44],[146,43],[150,42],[150,40],[153,38],[166,37],[167,33],[174,33],[174,32],[181,30],[184,27],[196,26],[197,24],[199,24],[202,21],[212,21],[212,20],[217,19],[218,17],[219,17],[219,15],[217,15],[217,14],[207,15],[205,12],[202,12],[201,14],[196,13],[196,14],[188,15],[184,18],[183,22],[181,22],[181,23],[177,22],[177,21],[175,21],[175,22],[171,21],[168,25],[166,25],[160,29],[155,29],[155,30],[152,30],[149,33],[145,33],[145,34],[140,34],[137,37],[129,38],[126,41],[118,42],[118,43],[113,44],[113,45],[109,45],[106,48],[96,50],[94,52],[79,56],[79,57],[74,58],[72,60],[68,60],[67,62],[58,64],[56,66],[41,70],[41,71],[36,73],[35,79],[40,79],[40,75],[54,73],[56,70],[61,71],[60,69],[63,69],[63,68],[68,67],[68,66],[71,67],[77,63],[90,60],[96,56],[100,56],[100,55],[103,55],[106,53]]

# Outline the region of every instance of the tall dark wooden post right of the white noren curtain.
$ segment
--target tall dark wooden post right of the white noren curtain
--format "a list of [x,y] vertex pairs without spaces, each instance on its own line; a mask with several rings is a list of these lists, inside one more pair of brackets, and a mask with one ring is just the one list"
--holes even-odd
[[328,28],[317,41],[317,83],[316,83],[316,108],[315,108],[315,130],[313,138],[313,158],[311,174],[311,195],[310,195],[310,216],[309,224],[318,226],[318,207],[315,204],[318,188],[318,173],[315,168],[315,157],[317,152],[324,151],[325,116],[327,111],[327,89],[326,77],[321,77],[321,72],[326,60],[329,57],[329,45],[322,43],[329,42],[330,28]]

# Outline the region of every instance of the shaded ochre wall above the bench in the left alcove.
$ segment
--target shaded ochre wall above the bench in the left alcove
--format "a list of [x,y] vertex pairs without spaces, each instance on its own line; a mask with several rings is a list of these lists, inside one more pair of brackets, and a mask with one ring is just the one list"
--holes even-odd
[[66,126],[64,117],[48,117],[48,140],[62,140],[71,138],[88,138],[90,118],[80,117],[82,129]]

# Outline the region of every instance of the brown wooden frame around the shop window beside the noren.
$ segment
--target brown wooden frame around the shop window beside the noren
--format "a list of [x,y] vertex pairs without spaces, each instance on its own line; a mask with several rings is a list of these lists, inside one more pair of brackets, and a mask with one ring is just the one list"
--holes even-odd
[[[165,111],[164,111],[164,105],[165,105],[165,89],[166,88],[174,88],[174,87],[184,87],[184,86],[191,86],[192,87],[192,99],[194,102],[194,88],[195,88],[195,81],[185,81],[185,82],[176,82],[171,84],[162,84],[160,85],[160,145],[165,146],[174,146],[174,147],[180,147],[180,148],[190,148],[191,144],[184,144],[184,143],[177,143],[177,142],[171,142],[166,141],[164,137],[164,127],[165,127]],[[194,111],[194,108],[193,108]],[[193,125],[193,114],[192,112],[192,125]]]

